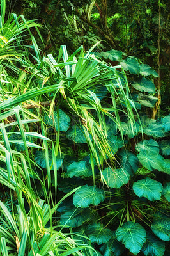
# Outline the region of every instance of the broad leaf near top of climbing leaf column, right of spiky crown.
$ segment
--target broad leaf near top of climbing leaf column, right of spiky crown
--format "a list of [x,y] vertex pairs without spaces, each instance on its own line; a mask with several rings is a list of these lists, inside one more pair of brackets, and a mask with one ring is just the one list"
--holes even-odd
[[134,58],[126,58],[120,62],[121,67],[123,69],[128,70],[131,74],[139,74],[140,73],[140,65],[137,60]]

